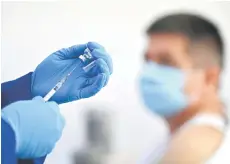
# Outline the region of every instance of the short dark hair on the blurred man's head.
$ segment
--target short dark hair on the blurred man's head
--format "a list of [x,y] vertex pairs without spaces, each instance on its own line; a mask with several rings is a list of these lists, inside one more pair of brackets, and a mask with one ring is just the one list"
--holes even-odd
[[224,45],[220,33],[216,25],[202,16],[180,13],[163,16],[147,29],[148,35],[154,33],[179,33],[194,43],[208,39],[215,45],[216,57],[219,65],[223,67]]

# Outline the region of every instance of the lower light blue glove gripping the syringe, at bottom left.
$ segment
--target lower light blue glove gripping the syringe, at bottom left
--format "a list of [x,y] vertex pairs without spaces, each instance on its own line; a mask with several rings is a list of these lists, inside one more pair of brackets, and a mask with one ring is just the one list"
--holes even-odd
[[2,119],[13,129],[18,158],[38,158],[52,151],[64,128],[64,118],[55,102],[43,98],[18,101],[3,108]]

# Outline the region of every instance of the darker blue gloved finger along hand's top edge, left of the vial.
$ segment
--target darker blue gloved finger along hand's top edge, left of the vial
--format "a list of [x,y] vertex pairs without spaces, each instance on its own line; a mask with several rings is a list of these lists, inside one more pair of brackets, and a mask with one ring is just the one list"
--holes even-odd
[[78,58],[80,55],[84,54],[85,49],[87,48],[86,44],[74,45],[69,48],[63,48],[57,51],[56,54],[61,59],[73,59]]

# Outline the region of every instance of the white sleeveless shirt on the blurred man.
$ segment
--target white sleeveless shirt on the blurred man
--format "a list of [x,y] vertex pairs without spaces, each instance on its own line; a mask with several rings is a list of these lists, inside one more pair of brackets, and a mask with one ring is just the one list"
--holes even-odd
[[[186,122],[179,131],[185,129],[191,125],[208,125],[212,126],[223,132],[225,134],[224,140],[221,146],[216,150],[213,156],[206,161],[206,164],[229,164],[230,163],[230,129],[227,126],[227,119],[224,119],[217,115],[211,114],[198,114],[188,122]],[[143,159],[138,164],[157,164],[164,156],[165,151],[167,150],[168,143],[170,141],[171,136],[166,138],[164,141],[159,142],[157,146],[155,146],[148,154],[145,155]],[[224,161],[224,163],[223,163]]]

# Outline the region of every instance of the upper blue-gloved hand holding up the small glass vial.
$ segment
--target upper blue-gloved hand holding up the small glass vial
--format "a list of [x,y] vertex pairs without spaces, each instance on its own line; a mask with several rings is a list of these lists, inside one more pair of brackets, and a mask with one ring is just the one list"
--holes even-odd
[[[96,65],[85,72],[82,69],[84,64],[78,57],[84,54],[87,47],[91,51]],[[91,97],[106,86],[113,72],[111,57],[97,43],[89,42],[64,48],[47,57],[34,71],[31,86],[33,96],[44,97],[76,65],[77,68],[51,98],[51,101],[65,103]]]

